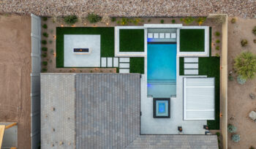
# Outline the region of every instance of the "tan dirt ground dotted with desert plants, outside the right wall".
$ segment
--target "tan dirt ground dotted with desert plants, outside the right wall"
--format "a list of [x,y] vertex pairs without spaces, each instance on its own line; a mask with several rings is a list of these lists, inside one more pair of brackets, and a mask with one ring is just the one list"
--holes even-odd
[[[256,44],[253,39],[252,28],[256,26],[256,18],[237,18],[236,23],[228,23],[228,71],[233,71],[233,59],[243,51],[256,54]],[[247,39],[249,44],[241,47],[241,39]],[[228,148],[240,149],[253,146],[256,148],[256,123],[249,119],[249,112],[256,110],[256,99],[252,100],[249,93],[256,94],[256,78],[247,80],[239,85],[236,78],[228,81],[228,123],[237,127],[241,141],[233,142],[231,134],[228,135]]]

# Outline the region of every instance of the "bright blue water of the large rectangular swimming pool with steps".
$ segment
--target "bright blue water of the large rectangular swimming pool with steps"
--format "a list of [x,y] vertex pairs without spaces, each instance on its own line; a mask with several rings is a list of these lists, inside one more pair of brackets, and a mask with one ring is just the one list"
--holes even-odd
[[176,95],[176,44],[148,44],[148,95]]

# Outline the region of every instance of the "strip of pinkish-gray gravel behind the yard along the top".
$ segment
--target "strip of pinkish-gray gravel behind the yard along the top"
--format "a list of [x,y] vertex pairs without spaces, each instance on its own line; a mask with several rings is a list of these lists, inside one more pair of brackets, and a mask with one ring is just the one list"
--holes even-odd
[[256,17],[255,0],[0,0],[0,12],[41,16],[98,15],[125,17],[206,16]]

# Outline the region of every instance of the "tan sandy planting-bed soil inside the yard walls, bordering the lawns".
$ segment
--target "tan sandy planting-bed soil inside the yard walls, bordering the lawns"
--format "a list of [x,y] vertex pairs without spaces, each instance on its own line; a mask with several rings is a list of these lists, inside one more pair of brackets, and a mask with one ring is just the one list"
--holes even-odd
[[[160,23],[161,20],[164,20],[164,23],[172,23],[172,20],[176,20],[176,23],[181,23],[180,18],[140,18],[142,21],[138,23],[137,26],[143,26],[144,23]],[[102,19],[103,20],[103,19]],[[120,18],[116,18],[116,20],[120,20]],[[67,27],[62,18],[48,18],[48,20],[42,20],[42,25],[47,24],[48,28],[42,28],[42,33],[47,32],[49,36],[43,37],[42,39],[47,40],[47,45],[42,45],[44,47],[48,47],[47,57],[42,58],[42,61],[48,61],[48,66],[42,66],[42,68],[46,68],[47,72],[86,72],[86,73],[115,73],[115,68],[56,68],[56,27],[64,26]],[[111,22],[110,20],[99,22],[99,23],[89,23],[85,18],[79,18],[78,23],[75,23],[74,27],[108,27],[108,26],[119,26],[118,23]],[[129,23],[128,26],[135,26],[133,23]],[[184,25],[185,26],[185,25]],[[198,26],[196,21],[189,24],[189,26]],[[201,26],[211,26],[212,27],[212,44],[211,44],[211,55],[216,56],[216,54],[220,54],[221,43],[216,43],[216,40],[221,40],[221,36],[216,37],[214,33],[219,31],[221,33],[221,26],[214,23],[212,19],[206,19],[206,21]],[[220,50],[215,50],[215,47],[219,46]],[[45,52],[42,52],[45,53]]]

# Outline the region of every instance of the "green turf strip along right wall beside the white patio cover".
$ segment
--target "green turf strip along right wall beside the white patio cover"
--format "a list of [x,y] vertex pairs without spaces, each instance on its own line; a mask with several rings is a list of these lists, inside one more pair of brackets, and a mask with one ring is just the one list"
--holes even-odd
[[220,59],[218,57],[200,57],[199,75],[215,78],[215,120],[207,121],[211,130],[219,129],[219,73]]

